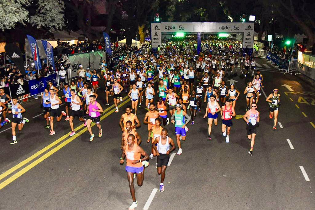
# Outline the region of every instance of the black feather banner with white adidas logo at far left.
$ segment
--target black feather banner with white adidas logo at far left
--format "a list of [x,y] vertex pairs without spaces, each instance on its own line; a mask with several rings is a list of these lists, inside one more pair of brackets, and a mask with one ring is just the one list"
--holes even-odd
[[24,67],[22,52],[20,48],[13,43],[7,43],[4,49],[5,49],[5,53],[9,56],[9,58],[13,61],[13,63],[18,67],[20,72],[23,75],[25,75],[25,67]]

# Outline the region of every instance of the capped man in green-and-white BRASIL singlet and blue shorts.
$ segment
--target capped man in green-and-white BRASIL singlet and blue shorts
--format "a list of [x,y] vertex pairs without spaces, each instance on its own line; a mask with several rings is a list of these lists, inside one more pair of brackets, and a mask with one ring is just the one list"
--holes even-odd
[[[191,117],[187,115],[187,113],[181,110],[182,106],[180,104],[176,104],[176,111],[172,115],[172,123],[175,123],[175,134],[178,145],[177,155],[182,153],[181,145],[180,145],[180,136],[183,141],[186,140],[186,130],[185,127],[190,121]],[[185,122],[185,117],[187,118]]]

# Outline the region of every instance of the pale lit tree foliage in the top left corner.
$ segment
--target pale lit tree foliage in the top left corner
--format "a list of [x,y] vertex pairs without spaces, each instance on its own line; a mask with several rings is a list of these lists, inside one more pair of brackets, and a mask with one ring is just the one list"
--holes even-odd
[[[36,8],[35,14],[31,10]],[[17,24],[46,28],[49,31],[61,29],[64,25],[64,3],[61,0],[39,0],[34,4],[31,0],[2,1],[0,7],[0,30],[14,29]]]

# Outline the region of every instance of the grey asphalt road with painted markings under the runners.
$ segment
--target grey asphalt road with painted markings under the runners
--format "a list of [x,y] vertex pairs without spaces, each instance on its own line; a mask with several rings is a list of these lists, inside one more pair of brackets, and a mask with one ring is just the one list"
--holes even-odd
[[[206,140],[208,125],[202,118],[203,105],[195,125],[188,126],[183,153],[175,155],[166,170],[165,191],[156,192],[149,209],[314,209],[314,83],[275,71],[264,60],[258,63],[266,95],[273,88],[280,90],[278,118],[282,128],[278,125],[277,131],[272,131],[273,120],[269,119],[268,104],[261,94],[260,127],[253,156],[248,156],[250,142],[242,118],[233,119],[230,143],[225,143],[221,134],[221,119],[218,126],[212,127],[212,140]],[[233,79],[242,93],[247,80]],[[101,89],[98,94],[98,101],[108,108]],[[70,126],[64,119],[55,123],[56,134],[49,136],[43,116],[37,116],[41,114],[39,100],[24,104],[24,116],[31,122],[17,132],[18,144],[9,144],[11,130],[5,129],[10,125],[0,130],[0,209],[127,209],[132,199],[125,165],[119,164],[118,123],[130,101],[124,100],[118,113],[110,106],[102,116],[103,137],[89,142],[89,133],[78,120],[75,128],[80,128],[75,136],[67,135]],[[110,101],[112,105],[112,98]],[[236,114],[243,115],[245,107],[245,96],[241,94]],[[140,121],[146,111],[138,110]],[[174,125],[166,128],[175,139]],[[95,126],[92,129],[97,133]],[[151,145],[145,141],[146,125],[142,124],[137,132],[144,140],[141,146],[150,154]],[[159,187],[155,162],[155,157],[150,160],[143,186],[135,184],[136,209],[144,209],[152,190]]]

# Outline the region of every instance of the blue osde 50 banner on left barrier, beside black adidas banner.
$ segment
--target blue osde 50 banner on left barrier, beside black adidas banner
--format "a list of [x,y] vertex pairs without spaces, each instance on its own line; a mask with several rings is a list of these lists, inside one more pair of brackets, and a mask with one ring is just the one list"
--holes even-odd
[[42,77],[40,79],[33,79],[28,81],[28,87],[31,95],[36,95],[44,92],[48,82],[53,82],[54,86],[57,86],[56,74],[49,75],[48,77]]

